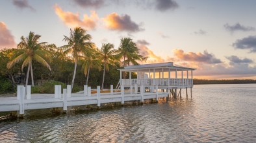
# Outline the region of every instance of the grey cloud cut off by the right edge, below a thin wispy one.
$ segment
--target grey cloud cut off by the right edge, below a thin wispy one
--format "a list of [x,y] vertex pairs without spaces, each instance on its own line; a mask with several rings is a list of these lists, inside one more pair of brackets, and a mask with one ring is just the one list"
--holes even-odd
[[247,38],[237,39],[233,43],[236,49],[248,49],[250,52],[256,52],[256,36],[248,36]]

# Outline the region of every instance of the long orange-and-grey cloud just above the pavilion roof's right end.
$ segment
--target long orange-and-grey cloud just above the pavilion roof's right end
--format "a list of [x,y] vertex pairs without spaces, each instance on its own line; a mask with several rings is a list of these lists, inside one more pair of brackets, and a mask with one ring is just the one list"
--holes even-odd
[[173,50],[174,55],[184,61],[198,61],[203,63],[222,63],[220,59],[215,58],[214,54],[209,54],[207,50],[203,52],[195,53],[195,52],[188,52],[187,54],[183,50],[175,49]]

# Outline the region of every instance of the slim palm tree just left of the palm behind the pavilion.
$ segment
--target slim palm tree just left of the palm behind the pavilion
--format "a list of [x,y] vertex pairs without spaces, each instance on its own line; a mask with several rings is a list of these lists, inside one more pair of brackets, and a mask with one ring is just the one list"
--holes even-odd
[[101,47],[101,59],[103,60],[103,80],[101,85],[101,90],[103,90],[104,80],[105,80],[105,71],[109,71],[109,65],[114,65],[116,50],[114,45],[110,43],[103,43]]

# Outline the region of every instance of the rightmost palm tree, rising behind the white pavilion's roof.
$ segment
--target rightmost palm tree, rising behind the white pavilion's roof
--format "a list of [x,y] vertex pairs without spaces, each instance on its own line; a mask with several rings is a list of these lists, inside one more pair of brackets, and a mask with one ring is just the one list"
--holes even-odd
[[[131,38],[122,38],[117,52],[117,57],[119,59],[123,58],[123,67],[130,65],[130,63],[140,65],[138,61],[146,61],[148,58],[140,54],[138,47],[136,47],[136,44]],[[125,72],[123,72],[123,78],[125,78]]]

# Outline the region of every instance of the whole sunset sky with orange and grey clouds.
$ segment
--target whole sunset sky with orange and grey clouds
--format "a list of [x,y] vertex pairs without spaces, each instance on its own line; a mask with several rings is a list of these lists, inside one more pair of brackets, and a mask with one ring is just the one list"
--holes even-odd
[[[66,45],[82,27],[100,49],[131,38],[146,63],[173,61],[199,79],[256,80],[255,0],[1,0],[0,49],[21,36]],[[144,62],[145,63],[145,62]]]

